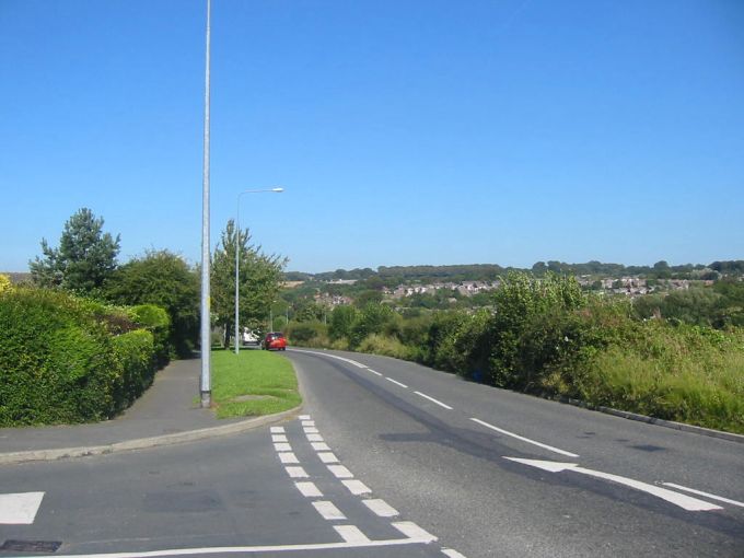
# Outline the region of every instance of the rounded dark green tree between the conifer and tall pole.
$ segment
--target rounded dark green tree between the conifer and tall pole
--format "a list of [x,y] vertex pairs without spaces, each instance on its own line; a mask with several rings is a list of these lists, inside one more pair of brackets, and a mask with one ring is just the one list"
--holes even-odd
[[117,304],[155,304],[170,318],[170,348],[188,357],[199,334],[199,278],[183,258],[150,251],[120,266],[106,282],[106,298]]

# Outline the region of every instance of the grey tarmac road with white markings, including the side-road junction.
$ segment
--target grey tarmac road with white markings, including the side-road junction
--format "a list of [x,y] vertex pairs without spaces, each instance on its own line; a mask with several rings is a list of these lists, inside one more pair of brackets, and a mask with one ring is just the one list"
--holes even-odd
[[0,496],[0,556],[744,556],[744,444],[384,357],[287,357],[305,406],[282,426],[0,468],[25,499],[3,524]]

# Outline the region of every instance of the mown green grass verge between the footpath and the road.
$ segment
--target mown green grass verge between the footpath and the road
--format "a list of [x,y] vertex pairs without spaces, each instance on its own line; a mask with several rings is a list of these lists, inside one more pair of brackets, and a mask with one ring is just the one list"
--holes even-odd
[[218,418],[272,415],[300,404],[294,369],[284,357],[259,350],[237,356],[212,351],[212,405]]

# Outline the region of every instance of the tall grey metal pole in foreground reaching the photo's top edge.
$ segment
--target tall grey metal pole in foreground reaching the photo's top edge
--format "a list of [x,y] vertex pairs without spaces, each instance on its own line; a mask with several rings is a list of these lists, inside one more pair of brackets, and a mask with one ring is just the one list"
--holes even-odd
[[201,376],[199,391],[201,407],[209,408],[212,398],[211,365],[211,324],[209,314],[209,55],[211,38],[211,0],[207,0],[207,60],[205,71],[205,153],[201,185]]

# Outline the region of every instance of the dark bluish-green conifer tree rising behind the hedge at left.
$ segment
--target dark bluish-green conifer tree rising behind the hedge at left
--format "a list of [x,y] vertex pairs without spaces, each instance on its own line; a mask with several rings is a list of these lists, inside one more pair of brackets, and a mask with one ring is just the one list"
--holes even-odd
[[59,247],[42,239],[44,257],[28,263],[35,283],[81,294],[97,294],[116,269],[119,236],[103,233],[103,218],[88,208],[78,210],[65,223]]

